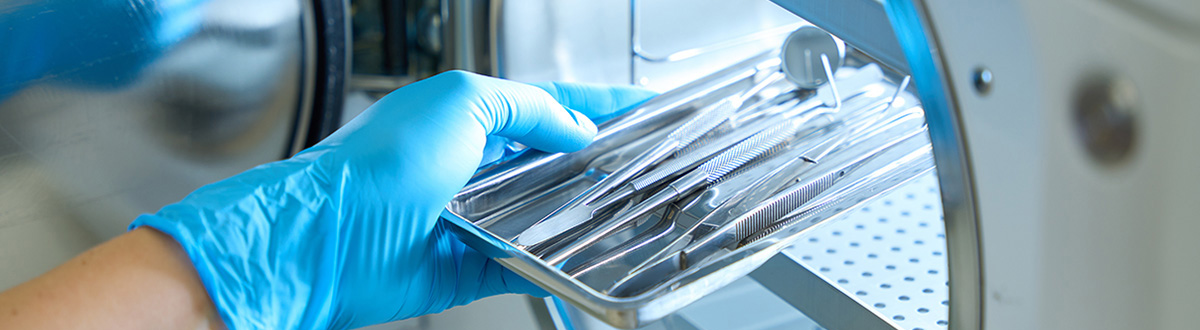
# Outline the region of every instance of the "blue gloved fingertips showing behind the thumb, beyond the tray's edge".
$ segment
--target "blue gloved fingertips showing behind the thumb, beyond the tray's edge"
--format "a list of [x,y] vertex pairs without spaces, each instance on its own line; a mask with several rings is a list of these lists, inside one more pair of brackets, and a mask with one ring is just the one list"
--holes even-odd
[[539,82],[538,86],[563,106],[578,110],[595,122],[604,122],[658,96],[652,90],[629,85]]

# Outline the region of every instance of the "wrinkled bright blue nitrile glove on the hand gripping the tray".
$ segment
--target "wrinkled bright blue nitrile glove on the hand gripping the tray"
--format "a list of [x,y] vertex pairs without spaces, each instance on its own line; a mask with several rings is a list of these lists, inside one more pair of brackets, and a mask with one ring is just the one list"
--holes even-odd
[[130,228],[175,238],[233,329],[358,328],[494,294],[546,295],[457,241],[442,209],[488,136],[574,151],[596,133],[587,115],[653,94],[539,86],[464,72],[414,83],[295,157],[204,186]]

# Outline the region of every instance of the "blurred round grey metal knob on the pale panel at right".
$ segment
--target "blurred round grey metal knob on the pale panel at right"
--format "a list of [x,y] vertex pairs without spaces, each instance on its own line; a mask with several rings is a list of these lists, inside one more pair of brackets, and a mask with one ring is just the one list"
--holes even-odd
[[1128,163],[1138,145],[1138,88],[1111,74],[1084,78],[1075,91],[1075,132],[1098,163]]

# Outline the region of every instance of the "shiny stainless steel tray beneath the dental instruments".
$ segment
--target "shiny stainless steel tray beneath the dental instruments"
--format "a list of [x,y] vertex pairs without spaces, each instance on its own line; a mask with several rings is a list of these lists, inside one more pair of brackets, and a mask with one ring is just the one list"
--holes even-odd
[[[846,64],[839,71],[839,83],[856,77],[874,77],[874,80],[859,84],[860,89],[840,89],[844,100],[893,100],[898,95],[895,100],[900,101],[896,107],[902,104],[913,115],[923,115],[919,107],[914,107],[918,104],[914,96],[906,91],[893,92],[898,85],[894,82],[899,80],[894,73],[883,72],[857,53],[852,53]],[[629,162],[653,142],[662,139],[697,109],[738,95],[778,70],[778,54],[751,58],[655,97],[601,125],[596,140],[584,150],[570,154],[528,151],[484,169],[446,206],[443,217],[455,224],[451,228],[464,242],[560,299],[613,326],[637,328],[748,275],[814,226],[835,220],[844,210],[932,169],[929,140],[922,127],[894,148],[877,152],[866,166],[840,181],[844,184],[803,204],[799,208],[803,211],[792,212],[786,221],[775,222],[736,248],[722,250],[716,257],[632,290],[614,292],[608,284],[612,276],[622,275],[638,263],[637,258],[622,253],[661,245],[653,239],[654,233],[672,224],[672,221],[664,221],[661,214],[646,217],[558,265],[551,265],[512,242],[524,229]],[[791,84],[780,82],[764,89],[760,98],[772,102],[796,98],[799,102],[816,95],[796,91]],[[919,120],[923,122],[924,118]],[[833,152],[848,154],[854,151],[852,149]],[[613,257],[617,254],[622,256]],[[594,275],[596,272],[581,276],[576,271],[589,260],[605,258],[619,260],[606,265],[606,276]]]

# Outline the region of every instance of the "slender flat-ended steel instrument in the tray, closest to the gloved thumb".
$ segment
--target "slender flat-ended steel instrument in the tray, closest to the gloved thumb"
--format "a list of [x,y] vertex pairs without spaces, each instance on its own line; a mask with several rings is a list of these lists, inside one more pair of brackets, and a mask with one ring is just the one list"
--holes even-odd
[[688,148],[698,138],[732,118],[738,110],[740,110],[745,101],[750,100],[763,89],[781,80],[784,74],[781,72],[772,72],[745,92],[722,100],[713,108],[697,115],[683,126],[679,126],[679,128],[676,128],[667,134],[665,140],[637,155],[637,157],[632,161],[625,163],[617,170],[613,170],[608,176],[601,179],[587,192],[574,198],[571,202],[547,215],[540,222],[522,232],[521,235],[516,238],[516,244],[521,246],[535,246],[589,221],[593,211],[598,210],[599,206],[607,205],[605,204],[596,205],[596,208],[587,208],[587,205],[592,204],[592,202],[604,197],[612,190],[625,184],[637,174],[646,172],[647,168],[654,166],[664,158],[667,158],[672,154]]

